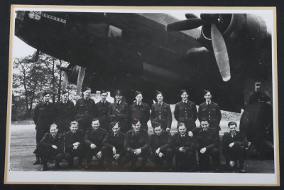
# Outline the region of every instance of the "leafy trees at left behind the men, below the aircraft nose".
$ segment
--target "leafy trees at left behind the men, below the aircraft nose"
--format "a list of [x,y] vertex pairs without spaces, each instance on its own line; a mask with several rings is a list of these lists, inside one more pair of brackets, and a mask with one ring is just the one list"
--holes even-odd
[[[35,63],[29,61],[31,57],[13,60],[12,112],[16,114],[17,111],[24,110],[24,113],[19,113],[24,117],[31,117],[34,103],[40,101],[44,90],[53,92],[53,102],[60,100],[62,73],[56,65],[67,65],[66,62],[43,53],[40,53]],[[55,100],[55,95],[58,95],[58,100]]]

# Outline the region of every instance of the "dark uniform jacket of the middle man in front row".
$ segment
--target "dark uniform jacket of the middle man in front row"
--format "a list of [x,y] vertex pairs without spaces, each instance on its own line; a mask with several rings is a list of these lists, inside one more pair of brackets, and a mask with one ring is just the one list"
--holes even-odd
[[150,138],[148,132],[140,130],[138,134],[134,130],[126,133],[124,140],[124,148],[126,151],[133,152],[134,149],[141,149],[142,151],[150,150]]

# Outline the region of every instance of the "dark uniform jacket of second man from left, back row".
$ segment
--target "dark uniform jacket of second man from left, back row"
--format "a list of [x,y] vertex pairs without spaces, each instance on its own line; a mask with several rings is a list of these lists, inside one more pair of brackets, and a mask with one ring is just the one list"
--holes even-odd
[[66,103],[63,103],[62,101],[56,102],[55,110],[56,110],[56,122],[58,122],[58,120],[68,120],[70,122],[75,120],[74,117],[75,106],[72,101],[67,100]]

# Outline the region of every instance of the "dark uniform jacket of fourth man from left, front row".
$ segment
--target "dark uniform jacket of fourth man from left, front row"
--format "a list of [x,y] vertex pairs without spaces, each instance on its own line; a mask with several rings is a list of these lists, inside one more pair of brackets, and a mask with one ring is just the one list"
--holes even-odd
[[104,137],[104,141],[102,142],[103,147],[107,147],[112,149],[116,148],[116,154],[123,155],[125,153],[124,149],[124,140],[125,134],[123,132],[119,132],[118,136],[114,137],[114,132],[109,131],[107,136]]

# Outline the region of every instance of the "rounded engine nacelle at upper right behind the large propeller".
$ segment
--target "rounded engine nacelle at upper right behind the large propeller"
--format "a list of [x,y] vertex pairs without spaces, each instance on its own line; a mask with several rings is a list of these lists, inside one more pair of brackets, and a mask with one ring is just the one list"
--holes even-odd
[[[222,33],[228,52],[251,53],[263,47],[267,38],[266,22],[254,14],[220,14],[217,28]],[[211,26],[204,24],[200,38],[204,47],[212,50]]]

